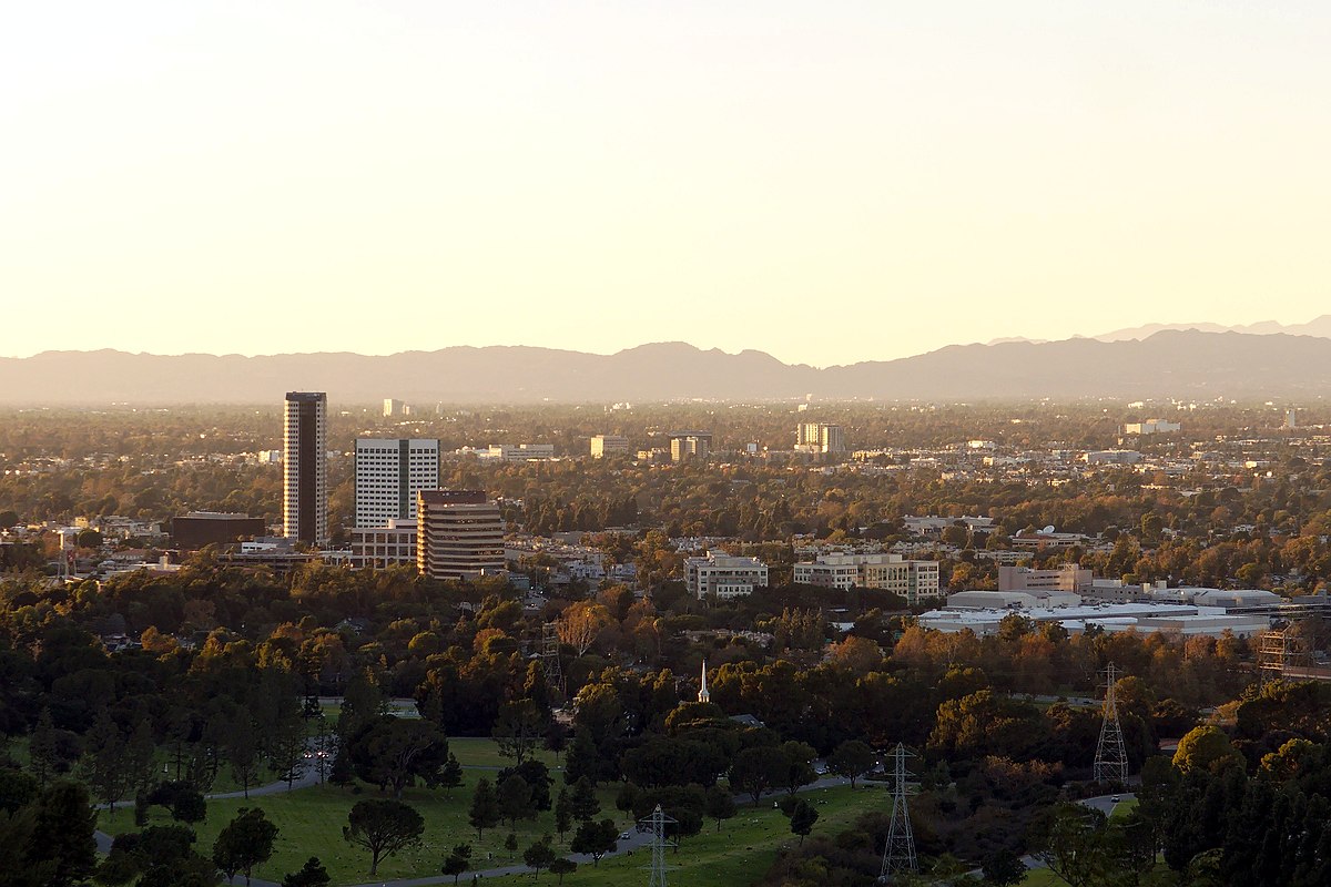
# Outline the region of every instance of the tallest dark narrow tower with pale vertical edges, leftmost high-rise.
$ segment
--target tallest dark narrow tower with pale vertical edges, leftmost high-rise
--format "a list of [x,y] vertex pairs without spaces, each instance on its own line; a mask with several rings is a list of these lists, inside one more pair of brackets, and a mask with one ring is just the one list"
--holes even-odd
[[327,412],[322,391],[286,392],[282,535],[310,545],[329,539]]

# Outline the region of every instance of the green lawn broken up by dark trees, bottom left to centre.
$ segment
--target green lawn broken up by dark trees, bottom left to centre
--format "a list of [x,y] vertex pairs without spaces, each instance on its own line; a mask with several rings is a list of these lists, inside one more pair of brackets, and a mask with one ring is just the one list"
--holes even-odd
[[[411,803],[425,817],[425,839],[419,850],[381,863],[377,879],[419,878],[438,874],[447,848],[462,842],[473,846],[473,860],[476,868],[519,864],[522,851],[528,844],[540,835],[554,831],[554,817],[547,811],[534,822],[518,824],[519,848],[516,852],[510,852],[503,847],[508,834],[506,826],[486,831],[484,839],[478,842],[475,830],[467,824],[467,806],[471,798],[471,786],[475,785],[476,778],[486,774],[473,770],[467,771],[466,775],[467,785],[455,790],[451,799],[446,798],[443,793],[425,789],[413,789],[405,793],[403,801]],[[556,791],[562,782],[556,781]],[[614,795],[615,787],[600,791],[602,815],[612,817],[622,830],[628,830],[632,826],[626,814],[614,809]],[[217,832],[236,815],[237,810],[244,806],[261,807],[277,823],[280,831],[273,859],[254,871],[257,876],[281,880],[284,874],[295,871],[305,859],[317,855],[327,866],[334,884],[365,883],[370,880],[369,855],[342,839],[342,826],[346,823],[346,814],[355,801],[377,797],[379,795],[373,789],[353,794],[350,790],[318,786],[290,794],[281,793],[252,798],[248,805],[245,801],[210,801],[208,819],[197,826],[197,846],[200,851],[206,854],[212,848]],[[861,813],[881,807],[886,799],[882,791],[862,787],[853,793],[847,787],[825,789],[808,793],[805,797],[819,810],[816,834],[835,834],[849,826]],[[105,811],[100,817],[100,827],[112,834],[129,831],[134,827],[133,815],[128,807],[117,810],[114,817]],[[154,814],[153,821],[165,822],[166,818]],[[709,823],[704,827],[703,834],[684,842],[672,863],[680,867],[679,876],[695,887],[736,887],[752,883],[767,871],[779,846],[797,840],[796,836],[791,835],[785,817],[764,802],[759,809],[740,807],[739,815],[725,822],[720,832],[716,831],[715,823]],[[643,876],[639,867],[646,860],[647,854],[643,851],[607,858],[602,860],[599,867],[579,867],[578,872],[568,879],[568,884],[579,887],[582,884],[636,883]],[[487,883],[490,880],[487,879]],[[518,880],[530,880],[530,876],[495,880],[515,884]]]

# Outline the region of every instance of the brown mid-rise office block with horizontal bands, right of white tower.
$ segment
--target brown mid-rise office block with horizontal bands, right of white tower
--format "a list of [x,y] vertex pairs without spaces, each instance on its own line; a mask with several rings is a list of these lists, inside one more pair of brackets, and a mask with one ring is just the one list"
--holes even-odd
[[476,489],[417,493],[417,568],[430,578],[503,569],[499,504]]

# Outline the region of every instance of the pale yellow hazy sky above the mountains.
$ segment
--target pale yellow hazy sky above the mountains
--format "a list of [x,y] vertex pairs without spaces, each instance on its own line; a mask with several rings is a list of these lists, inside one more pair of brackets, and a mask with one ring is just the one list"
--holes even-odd
[[1331,4],[11,3],[0,355],[1331,311]]

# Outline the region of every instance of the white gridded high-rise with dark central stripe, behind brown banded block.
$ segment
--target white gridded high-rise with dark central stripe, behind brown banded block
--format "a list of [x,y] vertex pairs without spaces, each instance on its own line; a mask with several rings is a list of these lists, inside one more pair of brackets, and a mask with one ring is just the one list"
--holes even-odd
[[439,442],[357,438],[355,525],[415,520],[417,493],[439,488]]

